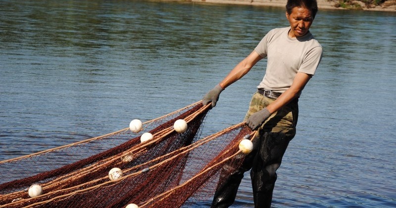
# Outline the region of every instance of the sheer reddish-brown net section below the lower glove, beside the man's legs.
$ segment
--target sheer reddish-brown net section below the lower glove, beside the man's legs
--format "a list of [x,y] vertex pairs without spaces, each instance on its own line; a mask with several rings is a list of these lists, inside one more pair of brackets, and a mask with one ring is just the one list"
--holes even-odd
[[[209,207],[216,186],[223,182],[222,177],[242,165],[246,155],[239,150],[239,143],[247,135],[254,134],[245,123],[240,123],[192,144],[188,152],[189,163],[179,185],[144,203],[139,202],[139,207],[189,208],[202,202]],[[136,204],[135,201],[130,203]]]

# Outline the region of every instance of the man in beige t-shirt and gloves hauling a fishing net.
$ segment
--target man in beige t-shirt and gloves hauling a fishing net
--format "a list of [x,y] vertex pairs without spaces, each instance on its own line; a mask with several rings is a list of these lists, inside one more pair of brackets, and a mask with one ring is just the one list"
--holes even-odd
[[298,98],[322,58],[323,49],[309,32],[317,10],[316,0],[288,0],[286,17],[290,27],[268,32],[254,51],[204,96],[202,103],[214,107],[226,87],[267,57],[265,76],[245,117],[247,125],[259,132],[253,140],[253,151],[236,172],[221,176],[224,181],[218,184],[213,208],[234,203],[244,172],[249,169],[255,207],[271,207],[276,170],[296,135]]

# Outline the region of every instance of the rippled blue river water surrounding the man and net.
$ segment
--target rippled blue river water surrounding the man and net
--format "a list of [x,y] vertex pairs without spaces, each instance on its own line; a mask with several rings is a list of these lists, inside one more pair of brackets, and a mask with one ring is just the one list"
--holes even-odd
[[[194,103],[283,8],[139,0],[0,1],[0,160]],[[322,63],[300,99],[274,207],[394,207],[396,14],[320,10]],[[239,123],[265,60],[225,90],[202,135]],[[206,206],[203,205],[203,206]],[[251,207],[249,176],[235,207]]]

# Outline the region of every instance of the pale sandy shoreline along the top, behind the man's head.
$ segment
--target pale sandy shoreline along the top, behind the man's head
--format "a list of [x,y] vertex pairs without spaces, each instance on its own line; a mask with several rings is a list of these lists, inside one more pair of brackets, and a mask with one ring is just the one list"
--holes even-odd
[[[274,7],[285,7],[287,0],[173,0],[173,1],[185,1],[185,2],[199,2],[199,3],[214,3],[214,4],[240,4],[240,5],[254,5],[254,6],[274,6]],[[338,0],[317,0],[319,9],[343,9],[343,10],[353,10],[346,9],[342,7],[337,7],[336,4],[339,3]],[[363,2],[356,1],[361,5],[364,11],[390,11],[396,12],[396,5],[391,6],[375,6],[372,8],[367,8]]]

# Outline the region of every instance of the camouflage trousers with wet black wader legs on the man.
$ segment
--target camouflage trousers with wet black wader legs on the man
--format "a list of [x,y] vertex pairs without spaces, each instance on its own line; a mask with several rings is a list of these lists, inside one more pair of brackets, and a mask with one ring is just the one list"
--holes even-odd
[[[256,92],[245,120],[274,101]],[[264,122],[258,129],[257,138],[253,139],[253,151],[245,157],[243,165],[231,175],[220,174],[222,183],[218,184],[212,208],[228,208],[234,203],[244,173],[250,169],[255,208],[271,207],[276,170],[281,165],[289,142],[296,135],[297,117],[298,99],[295,99]]]

